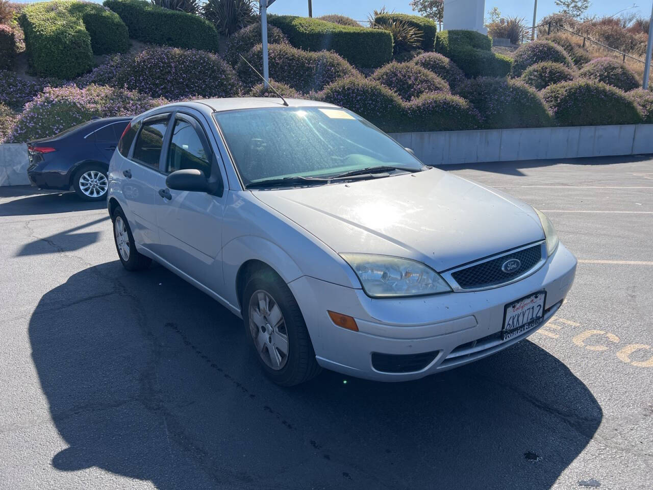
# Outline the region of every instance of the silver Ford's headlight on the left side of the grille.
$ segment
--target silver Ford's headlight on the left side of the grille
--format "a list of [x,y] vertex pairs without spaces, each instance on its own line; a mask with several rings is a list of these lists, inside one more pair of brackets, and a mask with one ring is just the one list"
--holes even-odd
[[421,262],[389,255],[341,253],[368,296],[421,296],[451,291],[438,272]]

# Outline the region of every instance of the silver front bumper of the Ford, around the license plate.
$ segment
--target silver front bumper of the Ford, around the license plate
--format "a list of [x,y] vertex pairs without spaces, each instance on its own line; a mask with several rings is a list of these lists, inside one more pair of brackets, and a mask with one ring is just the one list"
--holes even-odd
[[[534,274],[507,286],[431,297],[372,299],[362,289],[338,286],[308,276],[289,283],[304,314],[317,362],[357,378],[414,380],[458,367],[500,351],[531,335],[558,310],[571,287],[576,258],[562,244]],[[505,304],[547,291],[539,326],[502,341]],[[352,316],[358,332],[337,327],[327,310]],[[425,367],[409,372],[379,370],[372,353],[432,353]],[[426,354],[424,354],[426,355]],[[388,356],[386,356],[388,357]]]

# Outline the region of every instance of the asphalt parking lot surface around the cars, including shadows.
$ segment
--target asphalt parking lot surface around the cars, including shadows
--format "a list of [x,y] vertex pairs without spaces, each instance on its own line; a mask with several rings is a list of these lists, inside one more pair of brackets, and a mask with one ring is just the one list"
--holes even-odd
[[438,376],[293,389],[217,302],[123,270],[104,204],[0,188],[0,488],[652,489],[653,159],[447,170],[547,213],[567,302]]

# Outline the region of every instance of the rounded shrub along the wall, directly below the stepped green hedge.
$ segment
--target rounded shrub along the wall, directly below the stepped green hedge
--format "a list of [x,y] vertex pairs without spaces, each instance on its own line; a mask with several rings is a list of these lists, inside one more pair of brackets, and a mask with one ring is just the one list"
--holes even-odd
[[458,88],[483,118],[484,129],[543,127],[551,123],[540,95],[520,80],[479,77]]

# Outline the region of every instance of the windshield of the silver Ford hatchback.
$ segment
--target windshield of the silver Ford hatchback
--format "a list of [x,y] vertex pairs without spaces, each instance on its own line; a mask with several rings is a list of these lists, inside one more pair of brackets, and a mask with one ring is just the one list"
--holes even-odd
[[422,163],[353,112],[289,107],[215,112],[245,186],[284,177],[336,176]]

